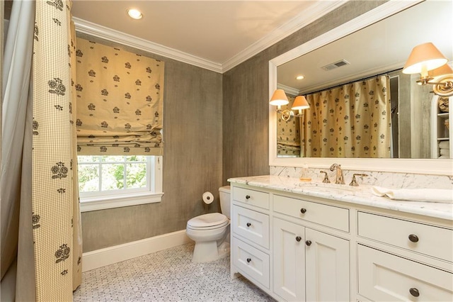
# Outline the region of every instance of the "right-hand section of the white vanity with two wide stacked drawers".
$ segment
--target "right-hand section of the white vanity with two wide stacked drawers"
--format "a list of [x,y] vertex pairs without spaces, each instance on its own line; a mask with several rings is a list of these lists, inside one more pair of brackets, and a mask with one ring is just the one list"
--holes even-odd
[[[357,245],[361,296],[372,301],[452,301],[452,229],[362,211],[357,218],[358,235],[375,241]],[[392,252],[388,245],[395,247]],[[440,268],[416,260],[425,257],[438,259]]]

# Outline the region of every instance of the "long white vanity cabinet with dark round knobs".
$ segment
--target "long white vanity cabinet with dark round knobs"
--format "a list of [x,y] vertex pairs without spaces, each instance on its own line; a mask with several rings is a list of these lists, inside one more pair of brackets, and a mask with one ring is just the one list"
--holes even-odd
[[232,180],[231,277],[277,301],[453,301],[452,219]]

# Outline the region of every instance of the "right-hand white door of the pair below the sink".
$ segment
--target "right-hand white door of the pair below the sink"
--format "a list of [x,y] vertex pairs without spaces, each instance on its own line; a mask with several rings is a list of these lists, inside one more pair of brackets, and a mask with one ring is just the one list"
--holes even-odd
[[306,301],[350,301],[349,241],[305,229]]

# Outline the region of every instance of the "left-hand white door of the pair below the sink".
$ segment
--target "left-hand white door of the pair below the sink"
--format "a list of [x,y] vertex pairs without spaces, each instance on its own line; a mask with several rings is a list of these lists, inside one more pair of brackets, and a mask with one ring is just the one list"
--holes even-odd
[[274,218],[274,292],[286,301],[305,301],[304,227]]

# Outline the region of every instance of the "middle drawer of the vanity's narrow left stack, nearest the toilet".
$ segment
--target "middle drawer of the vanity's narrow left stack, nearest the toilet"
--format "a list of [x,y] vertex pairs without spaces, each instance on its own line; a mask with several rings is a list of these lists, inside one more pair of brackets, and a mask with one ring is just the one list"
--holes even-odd
[[269,248],[269,216],[240,206],[233,206],[233,232]]

